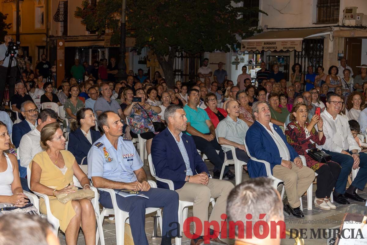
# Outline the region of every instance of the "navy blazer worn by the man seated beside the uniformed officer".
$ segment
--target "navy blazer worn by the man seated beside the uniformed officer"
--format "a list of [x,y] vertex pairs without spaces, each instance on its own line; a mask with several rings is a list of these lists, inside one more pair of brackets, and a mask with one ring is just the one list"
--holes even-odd
[[[209,174],[203,159],[197,152],[193,138],[187,134],[182,134],[181,138],[189,156],[190,168],[193,174],[202,172]],[[156,175],[162,179],[172,180],[175,190],[180,189],[185,184],[186,165],[176,140],[168,127],[153,138],[151,152]],[[166,183],[161,181],[157,181],[157,186],[159,188],[169,188]]]

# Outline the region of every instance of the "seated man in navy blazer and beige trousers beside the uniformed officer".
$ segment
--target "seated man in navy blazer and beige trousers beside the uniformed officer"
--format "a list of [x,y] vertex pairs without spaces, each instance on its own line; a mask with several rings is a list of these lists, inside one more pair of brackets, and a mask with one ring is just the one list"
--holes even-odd
[[[186,130],[187,118],[181,106],[167,107],[164,118],[168,127],[157,134],[152,142],[152,159],[156,175],[162,179],[172,180],[180,200],[194,203],[193,216],[198,217],[202,224],[208,221],[210,198],[217,198],[209,221],[217,221],[220,224],[223,220],[221,215],[226,212],[227,197],[234,187],[233,184],[209,178],[209,171],[196,150],[193,138],[182,133]],[[161,181],[157,181],[157,185],[168,189],[168,185]],[[196,232],[195,224],[194,229]],[[217,234],[221,232],[221,227],[215,232]],[[199,237],[192,239],[191,244],[202,244],[202,236],[209,233],[213,234],[214,230],[195,233]],[[213,238],[213,241],[224,244],[218,238]]]

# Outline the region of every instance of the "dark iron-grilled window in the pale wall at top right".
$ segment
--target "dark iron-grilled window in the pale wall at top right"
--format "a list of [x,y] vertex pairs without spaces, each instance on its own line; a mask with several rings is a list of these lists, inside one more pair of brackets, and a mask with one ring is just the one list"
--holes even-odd
[[340,0],[317,0],[316,24],[332,24],[339,21]]

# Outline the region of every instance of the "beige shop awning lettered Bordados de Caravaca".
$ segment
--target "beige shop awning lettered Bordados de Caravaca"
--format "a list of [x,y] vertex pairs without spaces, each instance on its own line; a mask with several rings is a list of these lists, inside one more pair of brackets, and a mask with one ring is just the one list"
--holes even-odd
[[243,39],[241,51],[302,51],[302,40],[330,34],[329,28],[298,29],[298,30],[270,30]]

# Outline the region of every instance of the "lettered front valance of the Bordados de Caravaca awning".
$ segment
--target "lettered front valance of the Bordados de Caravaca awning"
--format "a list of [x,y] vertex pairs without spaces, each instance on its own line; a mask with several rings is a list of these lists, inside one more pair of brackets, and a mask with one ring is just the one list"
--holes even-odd
[[278,41],[252,41],[243,40],[241,44],[241,51],[302,51],[302,40],[278,40]]

